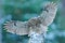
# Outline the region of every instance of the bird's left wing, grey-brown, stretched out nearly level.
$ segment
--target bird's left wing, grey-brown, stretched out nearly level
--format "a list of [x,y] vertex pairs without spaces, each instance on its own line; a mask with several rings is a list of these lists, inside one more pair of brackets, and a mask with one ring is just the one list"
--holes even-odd
[[26,22],[11,20],[4,24],[4,28],[8,32],[18,35],[28,34],[28,28]]

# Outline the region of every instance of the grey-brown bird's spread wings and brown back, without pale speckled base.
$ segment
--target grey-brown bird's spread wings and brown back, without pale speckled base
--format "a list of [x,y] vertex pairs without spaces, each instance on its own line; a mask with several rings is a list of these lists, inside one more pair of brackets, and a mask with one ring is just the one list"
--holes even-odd
[[32,17],[27,22],[11,20],[4,24],[4,29],[8,32],[16,33],[18,35],[30,35],[31,32],[37,32],[39,34],[48,31],[48,26],[53,22],[57,11],[56,3],[50,2],[44,5],[42,13]]

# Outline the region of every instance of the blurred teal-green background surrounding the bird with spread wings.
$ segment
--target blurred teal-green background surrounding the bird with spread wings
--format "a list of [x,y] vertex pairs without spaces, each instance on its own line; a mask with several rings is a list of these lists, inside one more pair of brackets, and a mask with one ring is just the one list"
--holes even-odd
[[46,43],[65,43],[65,0],[0,0],[0,43],[27,43],[27,35],[16,35],[3,30],[6,20],[28,20],[38,16],[44,3],[57,2],[54,22],[49,26]]

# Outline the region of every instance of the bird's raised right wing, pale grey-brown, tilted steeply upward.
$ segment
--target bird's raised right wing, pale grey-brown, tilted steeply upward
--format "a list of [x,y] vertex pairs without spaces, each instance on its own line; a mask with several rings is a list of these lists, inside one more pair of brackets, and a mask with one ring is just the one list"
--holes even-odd
[[40,15],[40,19],[42,22],[43,26],[49,26],[52,24],[53,19],[55,18],[56,11],[57,11],[57,4],[50,2],[44,6],[44,10],[42,14]]

